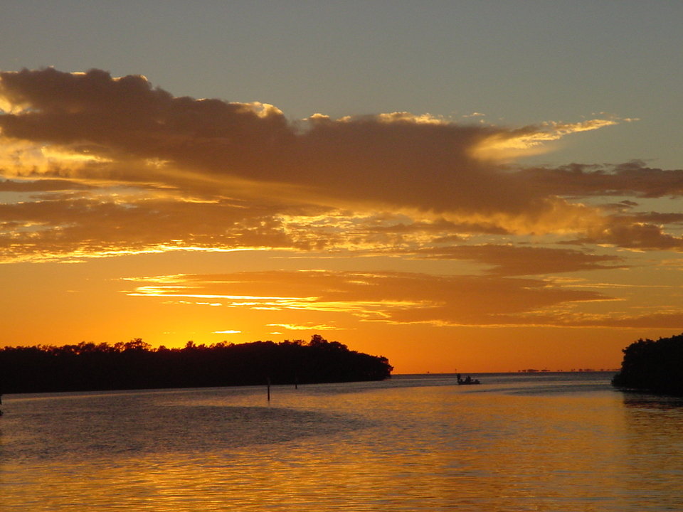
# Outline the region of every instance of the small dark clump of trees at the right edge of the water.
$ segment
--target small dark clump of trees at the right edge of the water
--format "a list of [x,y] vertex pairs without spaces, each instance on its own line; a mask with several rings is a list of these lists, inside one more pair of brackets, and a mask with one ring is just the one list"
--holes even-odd
[[623,353],[614,386],[683,396],[683,334],[657,341],[639,339]]

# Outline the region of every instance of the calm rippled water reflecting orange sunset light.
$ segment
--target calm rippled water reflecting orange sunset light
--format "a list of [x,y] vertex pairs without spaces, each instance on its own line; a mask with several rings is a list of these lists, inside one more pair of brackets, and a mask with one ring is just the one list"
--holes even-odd
[[683,511],[683,405],[611,375],[5,395],[0,510]]

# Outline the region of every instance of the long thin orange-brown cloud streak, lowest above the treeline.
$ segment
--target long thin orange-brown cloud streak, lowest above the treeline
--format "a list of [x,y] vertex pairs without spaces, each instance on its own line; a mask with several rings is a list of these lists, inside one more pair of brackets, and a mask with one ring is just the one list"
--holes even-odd
[[[580,279],[309,270],[176,274],[129,282],[138,286],[125,293],[136,297],[220,297],[227,307],[266,309],[264,327],[295,331],[339,330],[336,325],[348,316],[384,324],[480,327],[676,329],[683,321],[679,305],[657,306],[653,313],[650,302],[637,306],[595,291],[623,293],[632,288],[632,293],[644,293],[638,285],[591,284]],[[675,293],[670,297],[675,300]],[[605,312],[599,304],[607,302],[615,305]],[[591,304],[596,305],[592,310],[587,307]],[[325,321],[302,324],[290,319],[299,318],[301,312],[324,313]],[[339,322],[331,324],[331,319]]]

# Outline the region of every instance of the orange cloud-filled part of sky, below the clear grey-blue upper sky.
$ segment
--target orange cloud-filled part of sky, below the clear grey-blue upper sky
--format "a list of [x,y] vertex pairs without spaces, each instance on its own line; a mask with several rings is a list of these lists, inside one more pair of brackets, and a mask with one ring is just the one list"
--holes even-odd
[[397,373],[615,368],[683,331],[683,171],[524,164],[637,119],[292,120],[0,73],[0,340],[307,339]]

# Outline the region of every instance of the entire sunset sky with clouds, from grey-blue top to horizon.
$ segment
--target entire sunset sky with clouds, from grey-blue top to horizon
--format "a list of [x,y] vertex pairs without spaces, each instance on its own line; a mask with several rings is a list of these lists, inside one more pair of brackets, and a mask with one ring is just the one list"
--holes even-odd
[[683,331],[679,1],[0,6],[0,346],[395,373]]

